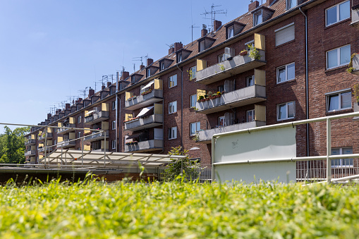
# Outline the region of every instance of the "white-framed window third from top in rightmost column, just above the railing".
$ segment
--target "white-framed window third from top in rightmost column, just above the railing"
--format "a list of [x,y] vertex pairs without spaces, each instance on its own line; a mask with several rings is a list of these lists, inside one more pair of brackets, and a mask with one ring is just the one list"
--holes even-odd
[[327,94],[327,111],[351,109],[351,91]]

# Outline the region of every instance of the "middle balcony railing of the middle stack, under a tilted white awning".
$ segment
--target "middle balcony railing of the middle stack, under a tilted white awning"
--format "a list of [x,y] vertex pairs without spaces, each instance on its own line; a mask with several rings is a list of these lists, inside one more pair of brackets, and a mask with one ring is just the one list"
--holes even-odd
[[152,114],[143,118],[137,118],[133,121],[125,123],[125,130],[135,131],[143,130],[145,128],[152,128],[158,125],[162,125],[164,117],[162,114]]

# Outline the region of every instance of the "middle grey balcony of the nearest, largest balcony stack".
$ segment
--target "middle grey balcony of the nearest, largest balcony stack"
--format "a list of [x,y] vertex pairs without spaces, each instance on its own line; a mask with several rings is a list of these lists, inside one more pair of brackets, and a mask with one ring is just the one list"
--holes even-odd
[[200,114],[211,114],[218,111],[224,111],[233,107],[255,104],[266,100],[265,87],[261,85],[252,85],[233,92],[222,94],[216,99],[209,99],[205,102],[197,102],[197,112]]

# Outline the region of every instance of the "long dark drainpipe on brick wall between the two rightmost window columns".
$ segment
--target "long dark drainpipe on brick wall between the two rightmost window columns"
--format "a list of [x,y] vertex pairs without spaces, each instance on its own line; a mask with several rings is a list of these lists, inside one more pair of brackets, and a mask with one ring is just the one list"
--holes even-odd
[[[302,9],[299,8],[300,13],[305,17],[305,118],[309,119],[309,90],[308,90],[308,17],[303,13]],[[307,157],[309,157],[309,123],[306,126],[306,137],[307,137]],[[307,161],[308,178],[310,172],[310,161]]]

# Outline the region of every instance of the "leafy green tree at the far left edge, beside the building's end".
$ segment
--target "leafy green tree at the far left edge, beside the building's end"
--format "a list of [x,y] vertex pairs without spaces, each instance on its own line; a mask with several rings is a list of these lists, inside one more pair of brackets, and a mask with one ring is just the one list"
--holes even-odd
[[0,134],[0,163],[23,164],[25,162],[25,137],[30,127],[11,130],[5,126],[5,133]]

